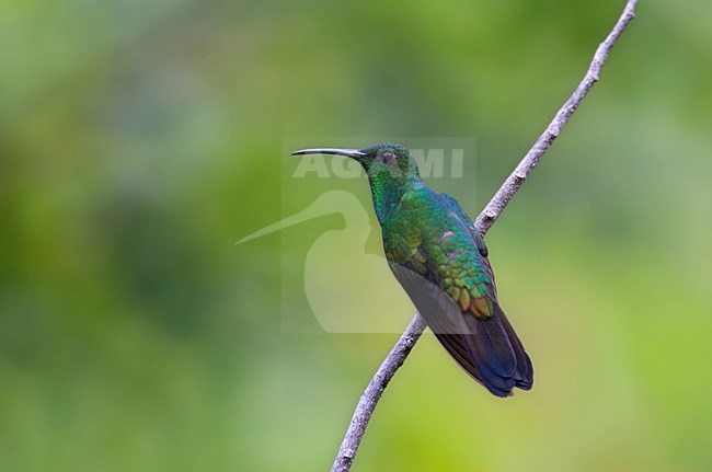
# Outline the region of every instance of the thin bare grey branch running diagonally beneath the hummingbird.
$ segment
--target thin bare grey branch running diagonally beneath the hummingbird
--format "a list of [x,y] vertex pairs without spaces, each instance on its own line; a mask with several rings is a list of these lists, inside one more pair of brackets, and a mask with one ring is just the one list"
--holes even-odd
[[[633,20],[633,18],[635,18],[636,3],[638,0],[628,1],[623,13],[616,23],[616,26],[613,26],[613,30],[598,46],[584,79],[581,81],[574,93],[559,110],[544,133],[539,137],[539,139],[537,139],[537,142],[535,142],[529,152],[527,152],[521,162],[519,162],[519,165],[517,165],[494,197],[492,197],[484,210],[482,210],[480,216],[478,216],[474,226],[482,234],[486,233],[499,215],[502,215],[502,211],[507,206],[514,194],[527,180],[529,173],[537,165],[541,157],[549,150],[561,133],[561,129],[574,114],[590,88],[598,81],[598,73],[606,61],[608,54],[628,24]],[[358,446],[360,445],[366,427],[368,426],[368,421],[376,408],[376,404],[380,400],[388,382],[393,378],[395,371],[403,365],[405,358],[413,349],[413,346],[415,346],[415,343],[421,337],[421,334],[423,334],[425,326],[425,322],[421,315],[415,313],[415,316],[411,320],[411,323],[401,335],[401,338],[395,343],[393,349],[391,349],[381,364],[381,367],[379,367],[378,371],[368,383],[368,387],[358,401],[358,405],[356,405],[354,416],[348,425],[348,430],[346,431],[344,441],[338,449],[338,454],[332,465],[332,472],[348,472],[351,470],[354,457],[356,456]]]

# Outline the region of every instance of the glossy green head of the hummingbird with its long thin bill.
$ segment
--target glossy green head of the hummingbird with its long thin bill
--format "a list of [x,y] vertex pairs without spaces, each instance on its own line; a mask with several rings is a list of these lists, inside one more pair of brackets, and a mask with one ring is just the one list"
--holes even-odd
[[393,142],[379,142],[364,149],[302,149],[291,154],[346,156],[357,161],[364,168],[369,179],[384,177],[395,181],[406,181],[413,177],[420,177],[417,164],[413,156],[411,156],[411,151]]

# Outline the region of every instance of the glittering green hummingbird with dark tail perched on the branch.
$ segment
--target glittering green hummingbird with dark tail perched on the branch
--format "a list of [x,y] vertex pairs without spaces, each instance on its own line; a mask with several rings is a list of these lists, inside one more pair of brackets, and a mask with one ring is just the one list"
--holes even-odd
[[531,360],[499,308],[482,234],[455,198],[423,183],[411,152],[394,143],[292,152],[302,154],[364,168],[388,264],[452,358],[497,396],[531,389]]

